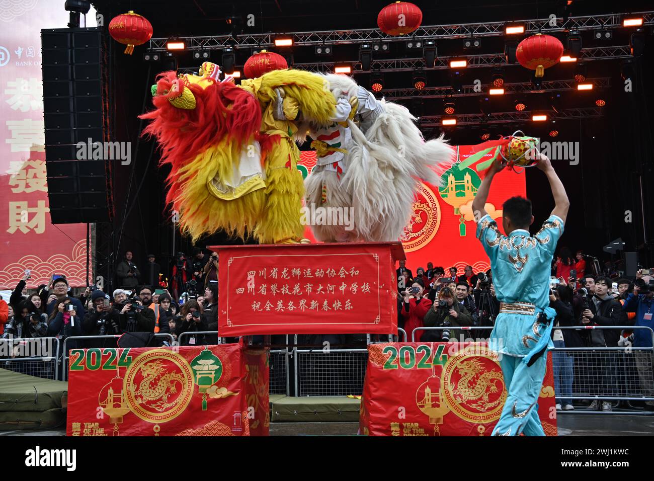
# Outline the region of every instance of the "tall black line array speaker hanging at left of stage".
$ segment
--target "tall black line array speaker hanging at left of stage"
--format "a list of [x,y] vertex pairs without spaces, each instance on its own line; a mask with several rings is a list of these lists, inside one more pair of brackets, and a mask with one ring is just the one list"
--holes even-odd
[[41,47],[52,223],[109,222],[112,160],[104,147],[109,134],[103,34],[97,27],[43,29]]

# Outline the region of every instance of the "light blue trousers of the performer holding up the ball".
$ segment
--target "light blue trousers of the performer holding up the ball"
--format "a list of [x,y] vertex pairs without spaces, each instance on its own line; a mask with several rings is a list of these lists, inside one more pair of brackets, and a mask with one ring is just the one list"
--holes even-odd
[[547,353],[527,366],[521,357],[502,354],[500,359],[504,385],[508,391],[500,420],[493,436],[545,436],[538,417],[538,396],[547,370]]

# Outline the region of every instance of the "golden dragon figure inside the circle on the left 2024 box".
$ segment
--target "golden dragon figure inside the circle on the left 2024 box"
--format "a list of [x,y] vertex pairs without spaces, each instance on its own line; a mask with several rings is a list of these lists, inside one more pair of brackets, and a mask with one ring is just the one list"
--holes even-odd
[[184,385],[184,377],[177,372],[169,372],[159,378],[165,371],[162,361],[159,360],[145,363],[139,368],[143,380],[134,391],[135,400],[139,404],[146,402],[148,407],[160,412],[177,404],[177,401],[168,402],[168,398],[177,393],[177,383]]

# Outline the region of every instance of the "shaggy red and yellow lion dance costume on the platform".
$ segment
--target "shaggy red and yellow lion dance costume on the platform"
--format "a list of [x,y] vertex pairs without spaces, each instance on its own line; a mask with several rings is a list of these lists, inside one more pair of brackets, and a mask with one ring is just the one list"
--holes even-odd
[[[241,86],[218,80],[205,62],[199,75],[158,75],[152,122],[161,164],[170,164],[166,200],[181,231],[254,236],[259,243],[301,241],[302,175],[294,142],[298,120],[328,122],[336,99],[319,75],[277,70]],[[302,133],[303,134],[303,133]]]

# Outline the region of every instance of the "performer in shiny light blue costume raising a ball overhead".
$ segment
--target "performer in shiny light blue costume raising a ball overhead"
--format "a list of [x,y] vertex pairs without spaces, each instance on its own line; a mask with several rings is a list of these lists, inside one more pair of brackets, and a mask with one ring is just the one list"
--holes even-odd
[[477,238],[490,258],[500,314],[490,334],[489,346],[500,355],[500,366],[508,397],[493,436],[545,436],[538,417],[538,396],[547,368],[547,351],[553,349],[549,307],[549,279],[552,255],[568,215],[568,196],[547,156],[538,154],[538,168],[545,172],[555,207],[542,228],[531,236],[534,222],[530,200],[513,197],[502,206],[502,227],[491,219],[484,206],[490,183],[502,170],[493,162],[472,203]]

